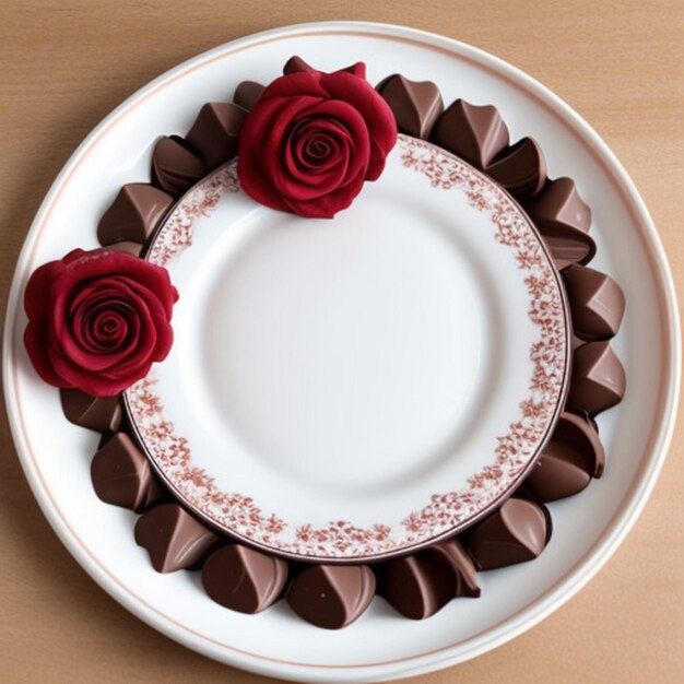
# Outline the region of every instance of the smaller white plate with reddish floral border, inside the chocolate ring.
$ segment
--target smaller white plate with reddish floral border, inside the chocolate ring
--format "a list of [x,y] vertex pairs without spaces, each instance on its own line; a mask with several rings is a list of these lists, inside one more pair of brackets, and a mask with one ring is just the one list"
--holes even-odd
[[351,562],[457,533],[524,476],[563,405],[558,274],[496,184],[400,135],[334,221],[272,211],[235,162],[146,258],[181,293],[125,394],[179,499],[273,553]]

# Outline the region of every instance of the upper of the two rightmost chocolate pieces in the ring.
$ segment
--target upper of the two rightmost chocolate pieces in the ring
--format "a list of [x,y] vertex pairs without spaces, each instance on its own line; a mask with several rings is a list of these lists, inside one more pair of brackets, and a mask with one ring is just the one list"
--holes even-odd
[[583,340],[605,340],[617,334],[625,312],[625,295],[605,273],[571,266],[563,279],[570,305],[573,331]]

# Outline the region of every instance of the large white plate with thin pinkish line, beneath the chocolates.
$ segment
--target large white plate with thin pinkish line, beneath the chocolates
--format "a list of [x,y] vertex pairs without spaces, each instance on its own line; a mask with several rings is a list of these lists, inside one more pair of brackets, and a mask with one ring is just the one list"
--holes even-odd
[[[334,45],[334,49],[331,49]],[[97,437],[68,425],[55,389],[33,373],[22,346],[21,297],[31,272],[72,247],[95,246],[95,225],[117,188],[149,173],[162,133],[184,132],[207,101],[238,81],[269,81],[293,54],[321,69],[363,59],[372,81],[400,71],[435,81],[446,101],[496,105],[514,139],[541,143],[551,176],[576,179],[593,212],[593,264],[623,286],[627,314],[613,345],[628,390],[600,416],[604,476],[551,505],[554,535],[536,561],[481,575],[483,597],[452,601],[434,617],[399,618],[381,600],[354,625],[328,633],[284,603],[247,616],[212,603],[197,577],[157,575],[132,541],[134,516],[93,494]],[[628,176],[599,137],[532,79],[472,47],[410,28],[333,22],[250,36],[201,55],[129,98],[83,142],[48,193],[21,253],[10,295],[3,374],[8,412],[26,476],[79,563],[120,603],[211,658],[298,681],[370,682],[447,667],[512,638],[578,591],[634,523],[665,457],[680,388],[674,288],[653,224]]]

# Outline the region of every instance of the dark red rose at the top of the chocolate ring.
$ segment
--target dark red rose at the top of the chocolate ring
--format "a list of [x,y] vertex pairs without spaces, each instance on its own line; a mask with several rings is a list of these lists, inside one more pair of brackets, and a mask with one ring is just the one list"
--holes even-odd
[[247,116],[237,173],[251,198],[300,216],[331,219],[376,180],[397,121],[363,63],[302,71],[271,83]]

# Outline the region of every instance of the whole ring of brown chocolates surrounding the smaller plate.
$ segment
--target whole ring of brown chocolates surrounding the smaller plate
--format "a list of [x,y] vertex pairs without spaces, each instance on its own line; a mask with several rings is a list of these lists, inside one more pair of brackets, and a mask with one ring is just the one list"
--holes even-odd
[[[306,69],[294,57],[284,72]],[[60,392],[70,422],[102,433],[91,467],[95,493],[140,514],[134,539],[155,570],[199,570],[207,594],[241,613],[259,613],[284,598],[303,620],[328,629],[354,622],[376,593],[405,617],[429,617],[457,597],[479,597],[477,571],[539,556],[552,532],[545,504],[575,495],[601,476],[605,455],[593,418],[625,392],[625,373],[609,342],[620,329],[625,298],[613,279],[586,266],[595,244],[588,233],[591,211],[575,182],[547,177],[543,152],[532,138],[510,144],[508,128],[491,105],[457,99],[445,109],[434,83],[400,74],[376,90],[400,132],[444,148],[503,186],[528,213],[562,273],[580,341],[570,390],[551,440],[514,496],[458,539],[403,557],[373,566],[288,563],[232,542],[175,502],[131,438],[118,398]],[[205,104],[185,138],[161,138],[150,182],[121,188],[99,221],[99,243],[140,256],[175,201],[235,156],[240,126],[262,92],[262,85],[244,81],[232,103]]]

